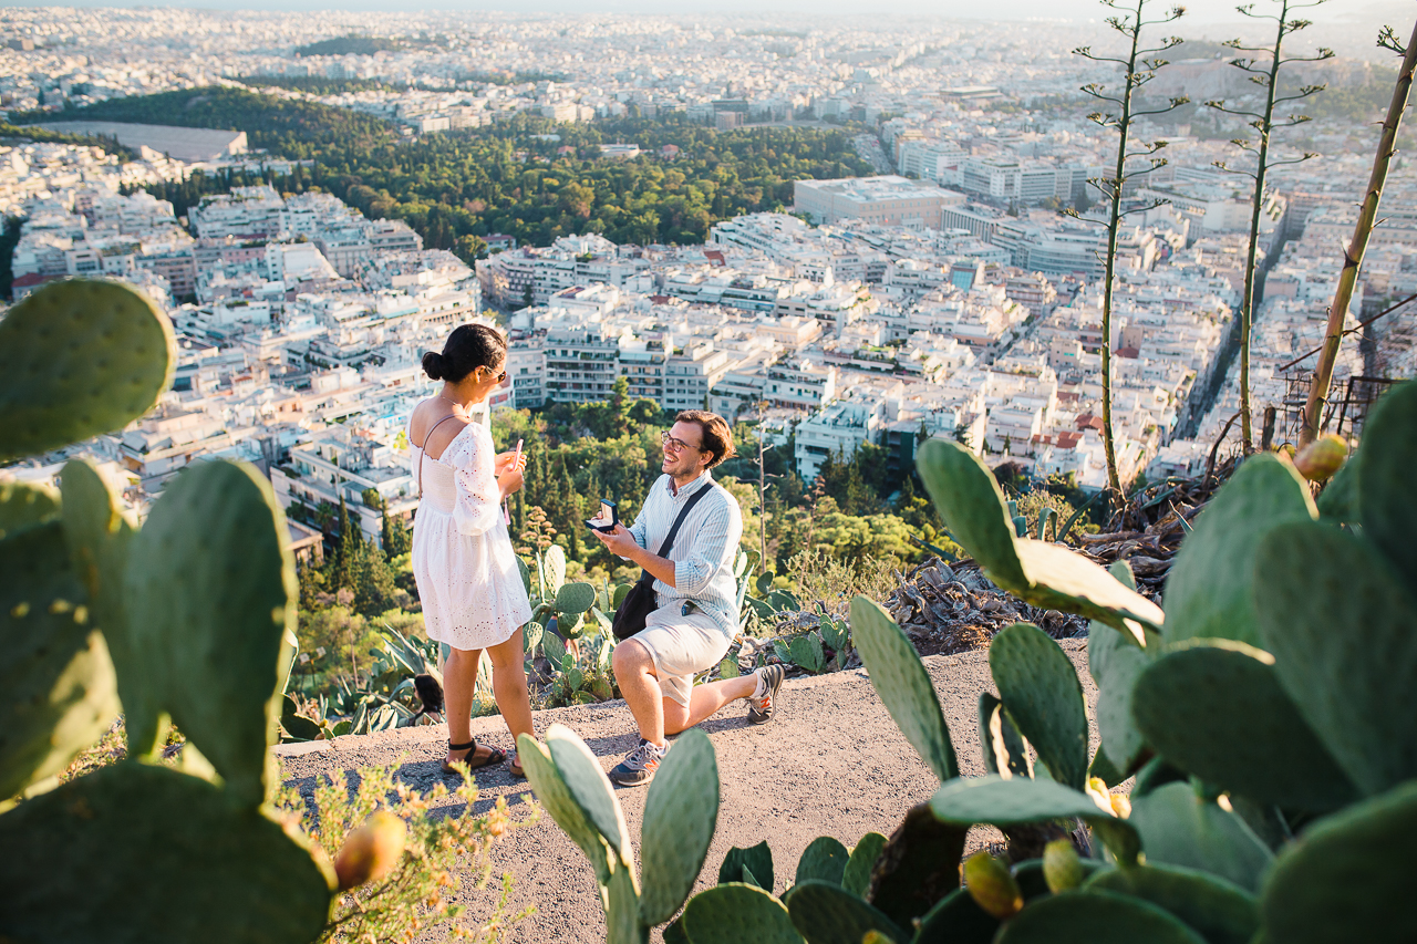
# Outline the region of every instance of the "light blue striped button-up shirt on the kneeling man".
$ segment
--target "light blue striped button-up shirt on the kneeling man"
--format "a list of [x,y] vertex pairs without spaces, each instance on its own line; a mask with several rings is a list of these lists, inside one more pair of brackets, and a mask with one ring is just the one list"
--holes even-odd
[[676,600],[691,600],[713,618],[726,635],[738,634],[738,585],[733,566],[743,539],[743,512],[738,500],[713,481],[706,471],[697,479],[674,492],[674,481],[659,476],[629,533],[635,543],[656,551],[665,543],[669,529],[684,507],[684,502],[699,489],[713,489],[699,499],[674,534],[669,560],[674,561],[674,585],[655,581],[655,595],[660,607]]

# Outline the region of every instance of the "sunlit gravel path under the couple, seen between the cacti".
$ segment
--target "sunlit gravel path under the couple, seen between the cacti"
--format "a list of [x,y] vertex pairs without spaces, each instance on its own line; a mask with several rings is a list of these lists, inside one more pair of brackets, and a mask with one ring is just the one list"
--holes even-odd
[[[1064,639],[1060,645],[1077,665],[1091,706],[1097,690],[1087,675],[1087,641]],[[939,695],[961,772],[983,774],[976,704],[979,693],[993,687],[988,651],[927,656],[924,662]],[[789,679],[778,717],[762,727],[748,726],[745,713],[743,703],[731,704],[701,726],[717,751],[721,799],[718,829],[699,889],[717,880],[718,865],[731,846],[767,839],[781,893],[812,839],[832,835],[850,848],[866,832],[890,835],[905,809],[927,799],[937,785],[876,697],[863,669]],[[585,738],[606,770],[636,744],[623,702],[537,713],[537,731],[553,723],[565,724]],[[510,746],[500,717],[475,719],[472,724],[479,740]],[[431,787],[441,777],[444,738],[446,727],[438,724],[275,750],[288,778],[303,790],[313,787],[316,775],[388,764],[401,755],[400,775],[411,785]],[[1095,740],[1094,731],[1094,746]],[[478,772],[479,807],[507,795],[513,812],[524,812],[520,797],[530,791],[526,781],[513,780],[506,767]],[[616,794],[638,845],[646,791]],[[996,839],[1000,839],[996,831],[976,828],[971,846]],[[605,918],[589,863],[550,816],[510,833],[493,855],[496,872],[512,872],[516,877],[513,910],[524,904],[537,909],[509,940],[524,944],[605,940]],[[495,894],[493,889],[465,892],[463,899],[469,910],[480,914],[490,909]]]

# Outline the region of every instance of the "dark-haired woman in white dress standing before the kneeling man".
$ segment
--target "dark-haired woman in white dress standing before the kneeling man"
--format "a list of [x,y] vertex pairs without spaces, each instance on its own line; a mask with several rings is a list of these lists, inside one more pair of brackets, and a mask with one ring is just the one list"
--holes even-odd
[[472,699],[482,651],[492,661],[492,692],[512,731],[512,772],[519,734],[533,734],[531,700],[521,666],[521,626],[531,605],[507,534],[502,502],[521,488],[526,459],[496,454],[492,434],[468,410],[506,380],[507,343],[486,325],[453,329],[442,353],[424,354],[424,370],[444,388],[408,421],[414,481],[414,578],[429,639],[452,648],[444,665],[448,761],[500,764],[507,753],[472,738]]

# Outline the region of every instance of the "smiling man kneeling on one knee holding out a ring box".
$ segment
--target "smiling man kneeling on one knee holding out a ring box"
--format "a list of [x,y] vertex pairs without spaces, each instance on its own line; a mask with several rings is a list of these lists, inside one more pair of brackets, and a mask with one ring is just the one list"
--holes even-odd
[[[611,770],[611,780],[623,787],[655,778],[669,751],[666,734],[699,724],[730,702],[748,699],[748,720],[754,724],[769,720],[782,685],[779,665],[694,685],[694,675],[717,665],[738,632],[733,567],[743,513],[737,499],[708,473],[734,455],[733,431],[717,414],[686,410],[660,438],[665,473],[650,488],[635,523],[597,532],[611,553],[649,571],[657,604],[643,632],[615,646],[615,680],[640,737],[639,747]],[[701,489],[710,490],[689,510],[669,556],[649,550],[663,546],[674,519]]]

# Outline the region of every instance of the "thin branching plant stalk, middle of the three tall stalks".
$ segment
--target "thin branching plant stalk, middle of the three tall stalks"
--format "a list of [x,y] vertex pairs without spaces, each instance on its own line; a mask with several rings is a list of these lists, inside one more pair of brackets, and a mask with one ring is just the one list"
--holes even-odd
[[1268,64],[1263,60],[1254,58],[1238,58],[1230,61],[1230,65],[1247,72],[1250,81],[1264,89],[1264,109],[1260,112],[1248,112],[1227,108],[1224,101],[1206,102],[1207,108],[1213,108],[1217,112],[1248,118],[1250,128],[1258,132],[1258,139],[1253,143],[1244,137],[1237,137],[1230,142],[1240,150],[1255,156],[1254,173],[1229,167],[1223,160],[1214,162],[1216,167],[1220,167],[1221,170],[1233,170],[1254,179],[1254,200],[1250,210],[1250,244],[1246,251],[1244,264],[1244,293],[1240,300],[1240,444],[1244,452],[1251,452],[1254,449],[1254,434],[1251,429],[1253,410],[1250,405],[1250,335],[1254,327],[1254,275],[1257,268],[1255,255],[1260,248],[1260,215],[1264,213],[1264,181],[1271,167],[1297,164],[1318,156],[1314,152],[1304,152],[1299,157],[1288,160],[1270,160],[1270,145],[1272,143],[1275,129],[1292,128],[1309,120],[1308,115],[1288,115],[1277,123],[1274,120],[1274,109],[1278,105],[1305,99],[1315,92],[1323,91],[1325,88],[1325,85],[1305,85],[1297,95],[1287,95],[1281,98],[1278,96],[1280,67],[1288,62],[1318,62],[1321,60],[1333,58],[1333,50],[1323,47],[1319,47],[1316,55],[1282,57],[1284,37],[1312,26],[1311,20],[1291,20],[1289,11],[1305,7],[1316,7],[1326,3],[1326,0],[1316,0],[1315,3],[1289,3],[1289,0],[1278,0],[1278,16],[1255,13],[1253,3],[1236,7],[1236,10],[1254,20],[1274,20],[1277,23],[1272,47],[1244,45],[1240,40],[1229,40],[1224,43],[1224,45],[1229,45],[1231,50],[1238,50],[1241,52],[1270,54]]

